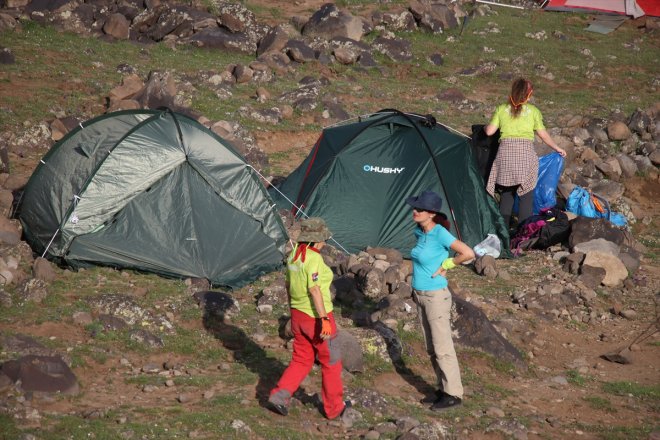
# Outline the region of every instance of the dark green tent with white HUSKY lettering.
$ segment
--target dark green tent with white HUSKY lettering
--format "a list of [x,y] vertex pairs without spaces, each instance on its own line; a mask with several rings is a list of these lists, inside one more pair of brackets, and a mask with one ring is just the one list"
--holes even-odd
[[325,219],[348,251],[383,246],[408,256],[414,223],[405,199],[433,190],[454,236],[474,246],[492,233],[506,249],[508,231],[484,189],[470,139],[430,119],[382,110],[326,128],[302,164],[269,192],[280,208]]

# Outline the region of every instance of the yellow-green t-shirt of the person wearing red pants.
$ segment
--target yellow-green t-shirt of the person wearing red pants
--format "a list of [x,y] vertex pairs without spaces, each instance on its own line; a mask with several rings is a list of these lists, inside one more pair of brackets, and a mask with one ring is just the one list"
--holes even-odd
[[300,310],[313,318],[318,318],[309,289],[318,286],[323,295],[323,305],[326,313],[332,312],[332,298],[330,296],[332,270],[325,264],[321,254],[311,249],[307,249],[305,252],[304,263],[301,257],[293,261],[298,246],[300,245],[298,244],[293,248],[287,261],[286,279],[289,283],[291,308]]

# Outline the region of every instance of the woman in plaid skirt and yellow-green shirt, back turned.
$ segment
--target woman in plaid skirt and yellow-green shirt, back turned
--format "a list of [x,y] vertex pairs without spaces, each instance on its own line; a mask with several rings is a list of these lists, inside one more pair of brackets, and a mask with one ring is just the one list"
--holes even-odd
[[538,108],[530,104],[534,88],[524,78],[518,78],[511,86],[509,102],[500,104],[485,131],[492,136],[500,130],[500,147],[488,177],[486,190],[490,195],[500,193],[500,212],[508,226],[513,210],[514,195],[520,197],[518,222],[532,215],[534,188],[539,173],[539,159],[534,151],[534,133],[538,134],[550,148],[566,157],[548,134],[543,125],[543,116]]

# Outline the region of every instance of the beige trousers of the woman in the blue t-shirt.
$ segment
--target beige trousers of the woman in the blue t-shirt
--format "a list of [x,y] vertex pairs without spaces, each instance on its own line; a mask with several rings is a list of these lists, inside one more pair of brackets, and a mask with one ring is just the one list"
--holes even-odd
[[438,386],[442,386],[445,393],[462,398],[461,370],[451,340],[451,292],[449,289],[413,292],[426,341],[426,352],[431,357]]

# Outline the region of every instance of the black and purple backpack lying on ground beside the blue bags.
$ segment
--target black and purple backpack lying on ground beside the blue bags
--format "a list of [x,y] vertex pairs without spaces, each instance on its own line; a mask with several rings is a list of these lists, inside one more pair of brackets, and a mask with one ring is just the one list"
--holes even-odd
[[547,249],[568,240],[571,224],[565,212],[557,208],[542,209],[537,215],[525,219],[511,238],[514,257],[527,249]]

